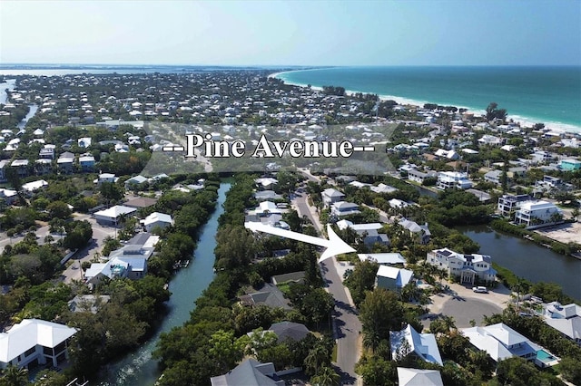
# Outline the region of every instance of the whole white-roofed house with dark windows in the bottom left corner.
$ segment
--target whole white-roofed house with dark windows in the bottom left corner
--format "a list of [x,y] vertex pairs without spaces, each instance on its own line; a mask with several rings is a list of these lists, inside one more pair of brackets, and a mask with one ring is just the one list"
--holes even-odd
[[68,359],[70,338],[77,330],[40,319],[24,319],[7,333],[0,333],[0,368],[50,363],[56,367]]

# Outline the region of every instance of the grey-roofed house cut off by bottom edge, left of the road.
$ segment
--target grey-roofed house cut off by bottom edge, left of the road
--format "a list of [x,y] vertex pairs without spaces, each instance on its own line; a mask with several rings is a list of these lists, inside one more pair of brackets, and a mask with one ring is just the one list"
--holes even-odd
[[245,359],[230,372],[212,377],[212,386],[284,386],[279,380],[272,362],[261,363],[255,359]]

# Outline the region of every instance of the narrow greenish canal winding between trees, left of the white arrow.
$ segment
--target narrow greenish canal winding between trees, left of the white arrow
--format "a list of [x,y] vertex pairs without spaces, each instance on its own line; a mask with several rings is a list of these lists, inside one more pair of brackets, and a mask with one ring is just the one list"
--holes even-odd
[[[155,350],[161,333],[167,333],[173,327],[181,326],[190,320],[190,312],[195,306],[194,302],[212,282],[218,217],[224,211],[222,204],[226,199],[226,192],[230,188],[231,184],[228,182],[220,184],[216,210],[202,228],[200,240],[193,252],[194,257],[190,265],[180,270],[170,282],[172,296],[168,302],[169,314],[166,315],[160,329],[138,350],[109,365],[106,373],[102,375],[102,379],[98,381],[100,385],[148,386],[153,385],[159,378],[160,372],[157,361],[152,358],[152,352]],[[94,382],[91,383],[94,384]]]

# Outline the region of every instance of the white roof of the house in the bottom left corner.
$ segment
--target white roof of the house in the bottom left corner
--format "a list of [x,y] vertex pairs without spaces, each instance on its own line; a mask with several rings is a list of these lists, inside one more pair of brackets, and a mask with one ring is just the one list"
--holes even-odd
[[76,333],[64,324],[25,319],[0,333],[0,362],[10,362],[36,345],[54,348]]

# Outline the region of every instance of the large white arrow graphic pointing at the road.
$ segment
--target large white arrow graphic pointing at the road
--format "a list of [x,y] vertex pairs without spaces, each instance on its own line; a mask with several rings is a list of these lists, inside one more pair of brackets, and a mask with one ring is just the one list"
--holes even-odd
[[291,238],[292,240],[313,244],[315,246],[324,246],[327,249],[325,249],[325,252],[323,252],[323,254],[320,256],[319,262],[332,256],[355,252],[355,249],[341,240],[340,236],[337,236],[329,224],[327,224],[327,234],[329,235],[329,240],[326,238],[303,235],[291,230],[281,229],[280,227],[271,227],[269,225],[258,222],[244,223],[244,227],[250,229],[252,232],[264,232],[274,236]]

